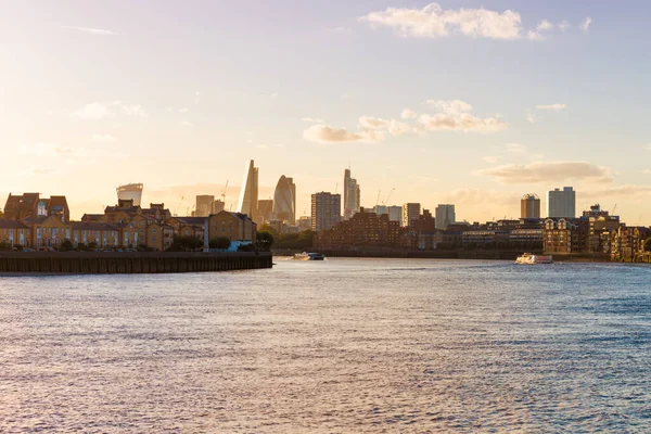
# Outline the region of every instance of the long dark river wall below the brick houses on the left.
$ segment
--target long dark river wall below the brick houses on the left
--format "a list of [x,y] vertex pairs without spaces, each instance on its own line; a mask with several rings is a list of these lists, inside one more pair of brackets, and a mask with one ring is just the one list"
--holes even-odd
[[0,273],[139,275],[271,268],[270,253],[7,252]]

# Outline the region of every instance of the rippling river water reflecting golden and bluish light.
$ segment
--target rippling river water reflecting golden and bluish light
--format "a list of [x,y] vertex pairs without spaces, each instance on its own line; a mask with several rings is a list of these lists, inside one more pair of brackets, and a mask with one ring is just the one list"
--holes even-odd
[[0,432],[651,432],[651,268],[0,277]]

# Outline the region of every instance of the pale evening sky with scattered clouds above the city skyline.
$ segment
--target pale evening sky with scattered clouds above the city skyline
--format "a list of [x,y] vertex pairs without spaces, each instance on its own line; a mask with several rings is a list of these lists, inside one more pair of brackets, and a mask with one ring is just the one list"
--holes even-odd
[[143,182],[145,204],[184,215],[228,181],[234,209],[253,158],[260,199],[294,177],[298,215],[350,167],[365,207],[487,221],[572,186],[578,210],[651,225],[644,1],[0,9],[1,197],[65,194],[79,218]]

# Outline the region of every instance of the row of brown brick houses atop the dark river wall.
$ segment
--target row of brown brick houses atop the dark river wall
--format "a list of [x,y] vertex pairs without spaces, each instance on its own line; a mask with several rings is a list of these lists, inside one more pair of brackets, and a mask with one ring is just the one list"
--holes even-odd
[[75,247],[95,248],[148,247],[165,251],[177,235],[204,240],[228,238],[231,248],[251,244],[256,238],[256,224],[245,214],[222,210],[208,217],[173,216],[164,204],[149,208],[133,201],[119,201],[103,214],[85,214],[71,221],[65,196],[40,197],[39,193],[10,194],[0,218],[0,243],[35,250],[58,248],[65,240]]

